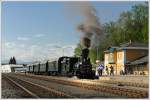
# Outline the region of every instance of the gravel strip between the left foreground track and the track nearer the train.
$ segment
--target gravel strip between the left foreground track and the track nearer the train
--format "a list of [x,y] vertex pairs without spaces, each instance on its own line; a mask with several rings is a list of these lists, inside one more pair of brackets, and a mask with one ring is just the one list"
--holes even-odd
[[[11,75],[12,76],[12,75]],[[109,94],[109,93],[102,93],[102,92],[97,92],[94,90],[87,90],[75,86],[69,86],[69,85],[63,85],[63,84],[58,84],[54,82],[48,82],[48,81],[43,81],[43,80],[38,80],[38,79],[33,79],[33,78],[28,78],[28,77],[23,77],[23,76],[15,76],[14,77],[19,77],[24,80],[28,80],[30,82],[34,82],[46,87],[54,88],[55,90],[65,92],[67,94],[70,94],[72,96],[76,96],[77,98],[125,98],[125,97],[120,97],[117,95]]]

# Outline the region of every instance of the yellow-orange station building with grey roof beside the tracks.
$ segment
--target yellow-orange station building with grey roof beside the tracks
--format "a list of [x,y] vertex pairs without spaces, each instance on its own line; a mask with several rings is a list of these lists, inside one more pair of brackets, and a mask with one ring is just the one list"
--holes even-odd
[[[114,74],[148,75],[148,45],[126,43],[104,51],[104,66],[114,67]],[[104,71],[106,73],[106,71]]]

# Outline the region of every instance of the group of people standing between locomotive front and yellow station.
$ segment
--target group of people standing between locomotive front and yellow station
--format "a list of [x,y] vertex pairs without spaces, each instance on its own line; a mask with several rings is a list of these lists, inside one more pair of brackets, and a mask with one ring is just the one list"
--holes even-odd
[[[106,70],[107,75],[110,75],[110,76],[114,75],[114,67],[112,65],[110,66],[110,72],[107,66],[105,68],[106,68],[105,70]],[[99,76],[102,76],[103,70],[104,70],[104,66],[100,64],[97,69]]]

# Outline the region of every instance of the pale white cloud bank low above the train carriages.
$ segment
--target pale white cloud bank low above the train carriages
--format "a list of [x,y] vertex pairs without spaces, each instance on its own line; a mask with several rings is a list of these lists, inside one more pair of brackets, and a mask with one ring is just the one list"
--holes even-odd
[[[59,48],[57,46],[59,46]],[[10,59],[10,57],[12,56],[15,56],[16,59],[24,62],[43,62],[46,60],[56,60],[63,55],[73,56],[74,48],[72,47],[75,47],[75,45],[27,45],[21,43],[7,42],[5,43],[4,48],[2,48],[2,58],[3,60],[5,60]]]

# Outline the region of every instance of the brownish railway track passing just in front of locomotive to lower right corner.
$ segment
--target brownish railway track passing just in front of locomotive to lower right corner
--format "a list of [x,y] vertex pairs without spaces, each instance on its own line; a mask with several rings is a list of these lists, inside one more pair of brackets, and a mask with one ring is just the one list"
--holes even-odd
[[[19,75],[25,76],[23,74],[19,74]],[[89,83],[84,83],[84,82],[75,82],[75,81],[56,79],[53,77],[43,77],[43,76],[35,76],[35,75],[26,75],[26,77],[45,80],[45,81],[49,81],[49,82],[56,82],[56,83],[64,84],[64,85],[76,86],[76,87],[85,88],[88,90],[95,90],[95,91],[99,91],[99,92],[111,93],[111,94],[115,94],[115,95],[119,95],[119,96],[125,96],[128,98],[148,98],[148,91],[113,86],[113,85],[105,84],[105,83],[89,84]]]

